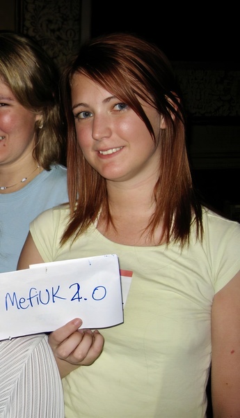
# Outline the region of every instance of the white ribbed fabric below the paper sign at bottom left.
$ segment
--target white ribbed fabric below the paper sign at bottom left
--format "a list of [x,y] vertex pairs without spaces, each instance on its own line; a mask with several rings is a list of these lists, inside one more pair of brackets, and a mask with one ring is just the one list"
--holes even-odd
[[0,341],[0,417],[64,418],[61,378],[45,334]]

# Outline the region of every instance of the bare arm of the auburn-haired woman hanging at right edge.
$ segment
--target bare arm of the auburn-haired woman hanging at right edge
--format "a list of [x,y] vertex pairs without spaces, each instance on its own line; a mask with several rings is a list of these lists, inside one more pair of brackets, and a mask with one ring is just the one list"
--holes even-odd
[[214,418],[240,417],[240,272],[214,296],[211,311]]

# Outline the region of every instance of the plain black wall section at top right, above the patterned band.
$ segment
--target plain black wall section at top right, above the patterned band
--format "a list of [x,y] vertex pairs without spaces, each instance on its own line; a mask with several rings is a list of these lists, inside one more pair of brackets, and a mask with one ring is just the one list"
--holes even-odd
[[239,61],[237,7],[211,1],[92,1],[91,34],[133,31],[157,42],[172,61]]

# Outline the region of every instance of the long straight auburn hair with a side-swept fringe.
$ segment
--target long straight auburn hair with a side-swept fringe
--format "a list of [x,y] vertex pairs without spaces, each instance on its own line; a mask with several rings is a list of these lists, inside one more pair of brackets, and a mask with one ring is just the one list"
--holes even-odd
[[175,73],[159,47],[130,33],[111,33],[85,42],[67,65],[61,78],[61,93],[67,118],[67,176],[70,221],[61,243],[75,240],[95,222],[99,210],[107,222],[109,212],[106,180],[83,157],[77,142],[71,102],[72,77],[82,74],[102,86],[133,109],[143,120],[152,140],[152,125],[139,98],[157,109],[166,129],[161,130],[159,179],[154,187],[156,211],[147,230],[163,224],[167,244],[174,240],[183,247],[189,242],[191,225],[202,237],[202,207],[195,196],[186,150],[186,116]]

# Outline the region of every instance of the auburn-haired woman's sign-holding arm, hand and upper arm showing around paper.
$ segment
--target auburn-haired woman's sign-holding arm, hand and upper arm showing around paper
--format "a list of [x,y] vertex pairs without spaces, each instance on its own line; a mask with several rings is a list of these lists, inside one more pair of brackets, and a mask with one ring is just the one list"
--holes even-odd
[[[26,238],[19,256],[17,270],[31,264],[43,263],[31,233]],[[88,366],[102,353],[104,337],[97,330],[79,330],[82,321],[74,318],[69,323],[49,334],[49,344],[54,352],[61,378],[79,366]]]

